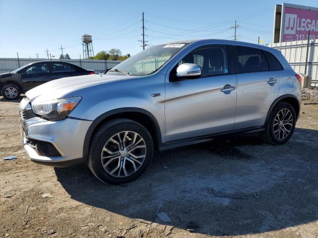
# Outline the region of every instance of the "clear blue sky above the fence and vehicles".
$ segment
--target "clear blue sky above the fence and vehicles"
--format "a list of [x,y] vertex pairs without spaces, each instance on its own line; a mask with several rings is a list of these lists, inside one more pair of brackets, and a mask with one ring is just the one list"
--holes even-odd
[[[317,0],[286,0],[318,7]],[[58,58],[60,45],[71,58],[82,55],[80,38],[92,35],[94,53],[118,48],[142,50],[142,12],[146,40],[157,45],[175,39],[233,39],[271,43],[275,4],[279,0],[0,0],[0,58]]]

